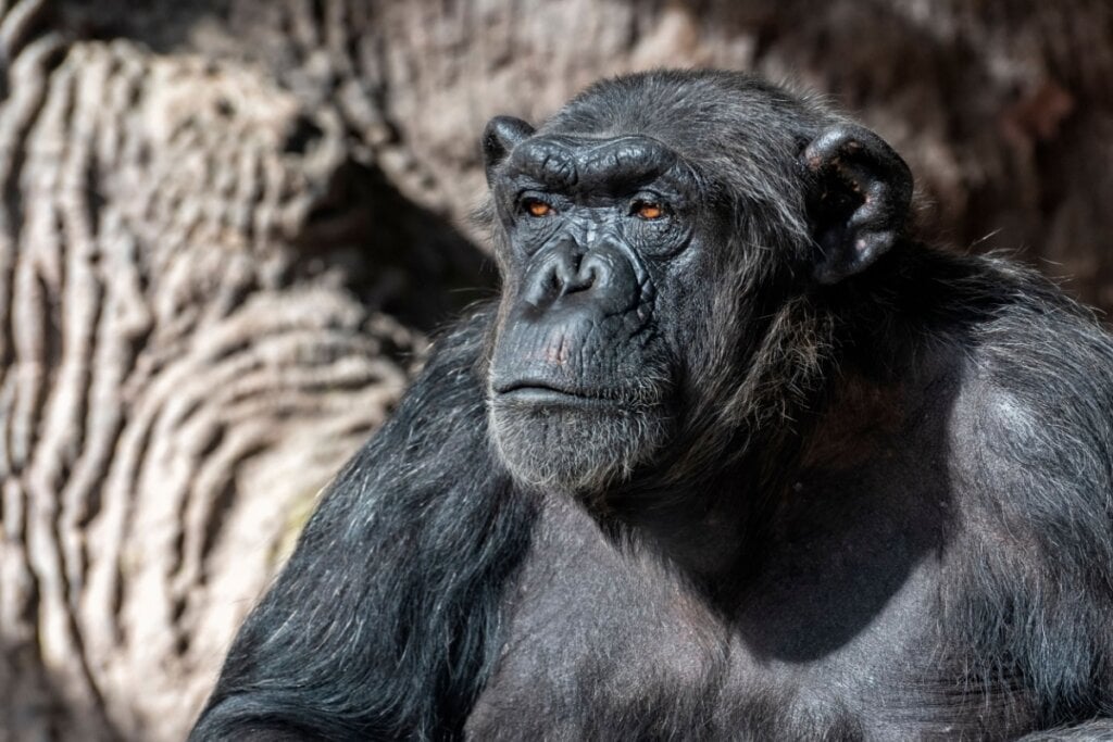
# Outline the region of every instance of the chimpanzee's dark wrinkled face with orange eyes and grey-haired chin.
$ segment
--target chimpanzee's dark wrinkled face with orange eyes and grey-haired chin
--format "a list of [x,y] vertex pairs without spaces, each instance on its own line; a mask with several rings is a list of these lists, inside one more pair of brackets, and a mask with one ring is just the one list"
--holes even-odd
[[503,118],[486,137],[505,233],[492,431],[520,479],[590,491],[669,436],[678,368],[658,309],[696,288],[699,199],[653,138],[531,133]]

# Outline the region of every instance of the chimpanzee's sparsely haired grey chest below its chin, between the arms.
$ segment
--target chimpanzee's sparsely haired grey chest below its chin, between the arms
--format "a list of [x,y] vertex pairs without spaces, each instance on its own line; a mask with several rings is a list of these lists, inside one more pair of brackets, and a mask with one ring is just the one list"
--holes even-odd
[[728,619],[577,508],[542,517],[561,523],[538,530],[471,739],[1007,739],[1031,719],[964,685],[940,568],[908,540],[779,544]]

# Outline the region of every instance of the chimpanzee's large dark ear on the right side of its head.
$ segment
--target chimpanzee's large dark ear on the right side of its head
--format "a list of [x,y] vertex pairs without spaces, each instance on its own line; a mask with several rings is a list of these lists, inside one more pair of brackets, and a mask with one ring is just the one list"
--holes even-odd
[[834,126],[802,154],[812,175],[808,212],[821,255],[815,277],[837,284],[897,241],[912,202],[912,171],[892,147],[860,126]]

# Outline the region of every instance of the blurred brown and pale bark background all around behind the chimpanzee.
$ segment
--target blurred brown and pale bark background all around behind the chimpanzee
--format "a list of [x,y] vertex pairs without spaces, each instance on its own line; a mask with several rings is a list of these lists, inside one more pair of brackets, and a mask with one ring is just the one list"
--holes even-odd
[[477,137],[754,70],[1113,308],[1107,0],[0,0],[0,742],[179,740],[313,499],[492,295]]

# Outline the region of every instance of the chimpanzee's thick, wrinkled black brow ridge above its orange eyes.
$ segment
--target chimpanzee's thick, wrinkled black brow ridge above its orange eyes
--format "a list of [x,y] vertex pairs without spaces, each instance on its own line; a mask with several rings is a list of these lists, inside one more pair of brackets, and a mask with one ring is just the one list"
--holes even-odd
[[621,192],[692,182],[691,169],[676,150],[642,135],[533,137],[514,148],[505,172],[561,191]]

